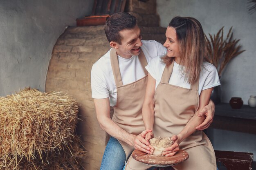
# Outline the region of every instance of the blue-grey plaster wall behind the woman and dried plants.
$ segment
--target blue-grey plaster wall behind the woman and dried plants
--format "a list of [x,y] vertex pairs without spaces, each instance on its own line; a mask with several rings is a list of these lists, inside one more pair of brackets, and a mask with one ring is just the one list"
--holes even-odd
[[221,77],[222,102],[242,97],[247,104],[256,95],[256,12],[247,12],[247,0],[157,0],[160,25],[167,27],[175,16],[194,17],[204,32],[216,34],[225,26],[224,35],[233,26],[234,38],[246,51],[231,60]]

